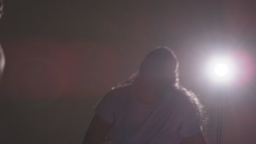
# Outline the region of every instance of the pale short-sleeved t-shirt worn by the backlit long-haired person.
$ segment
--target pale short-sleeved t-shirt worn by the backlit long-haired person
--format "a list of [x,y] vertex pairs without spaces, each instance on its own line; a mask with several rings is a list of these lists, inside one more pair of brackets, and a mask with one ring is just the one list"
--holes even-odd
[[178,144],[182,137],[201,132],[193,104],[173,89],[147,105],[138,101],[131,86],[117,88],[102,98],[95,113],[112,125],[109,136],[114,144]]

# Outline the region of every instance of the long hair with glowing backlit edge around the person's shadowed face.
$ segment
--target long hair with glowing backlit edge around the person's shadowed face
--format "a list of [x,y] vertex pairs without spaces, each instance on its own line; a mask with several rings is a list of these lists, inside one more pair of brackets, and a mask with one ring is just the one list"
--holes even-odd
[[[175,80],[173,82],[173,87],[175,89],[177,89],[179,92],[183,93],[183,95],[185,95],[191,104],[193,104],[194,109],[196,110],[196,114],[197,117],[200,120],[200,124],[201,124],[201,131],[203,133],[203,135],[205,136],[205,138],[207,137],[206,135],[206,125],[207,125],[207,121],[208,118],[206,116],[206,112],[205,112],[205,108],[203,107],[203,105],[200,103],[200,100],[197,98],[197,95],[192,92],[189,91],[187,88],[185,88],[183,85],[181,85],[181,82],[179,80],[179,62],[178,62],[178,58],[175,54],[175,52],[173,50],[171,50],[168,47],[158,47],[152,51],[150,51],[146,57],[143,59],[141,66],[139,68],[139,71],[137,71],[135,74],[132,74],[129,79],[118,83],[117,87],[114,88],[119,88],[119,87],[126,87],[126,86],[130,86],[135,84],[140,77],[140,74],[142,73],[143,67],[144,67],[144,62],[147,61],[147,59],[152,58],[152,57],[172,57],[172,59],[174,60],[174,62],[176,62],[176,64],[174,65],[175,67],[175,71],[174,71],[174,75],[175,75]],[[113,89],[114,89],[113,88]]]

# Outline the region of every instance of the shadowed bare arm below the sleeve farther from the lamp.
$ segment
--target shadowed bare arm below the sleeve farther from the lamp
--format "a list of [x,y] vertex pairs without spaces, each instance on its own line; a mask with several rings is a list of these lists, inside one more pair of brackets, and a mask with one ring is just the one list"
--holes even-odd
[[83,144],[102,144],[109,131],[110,124],[101,117],[94,116],[84,136]]

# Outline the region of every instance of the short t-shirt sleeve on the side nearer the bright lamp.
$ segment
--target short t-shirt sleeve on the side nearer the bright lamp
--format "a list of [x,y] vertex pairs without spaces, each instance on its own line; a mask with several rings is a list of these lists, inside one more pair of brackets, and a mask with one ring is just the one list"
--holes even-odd
[[179,134],[182,137],[190,137],[201,132],[200,121],[196,115],[196,110],[191,103],[185,107],[186,109],[184,111],[184,117]]

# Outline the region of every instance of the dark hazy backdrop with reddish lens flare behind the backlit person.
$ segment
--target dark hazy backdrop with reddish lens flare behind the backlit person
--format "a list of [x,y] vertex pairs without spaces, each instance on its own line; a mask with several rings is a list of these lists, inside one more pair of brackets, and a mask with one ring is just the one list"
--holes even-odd
[[206,107],[210,143],[218,92],[205,67],[212,53],[245,53],[242,78],[220,86],[223,143],[256,142],[254,1],[4,2],[0,143],[81,143],[97,101],[165,45],[177,52],[183,85]]

